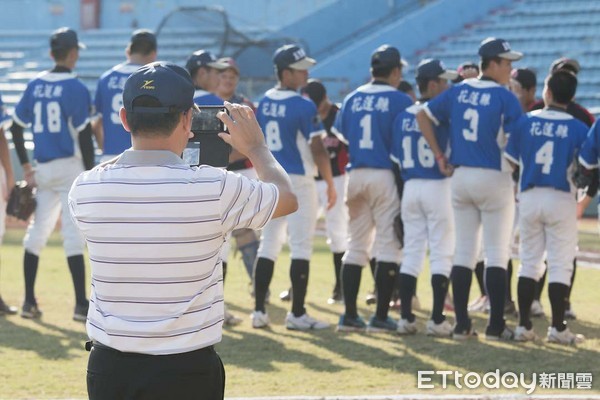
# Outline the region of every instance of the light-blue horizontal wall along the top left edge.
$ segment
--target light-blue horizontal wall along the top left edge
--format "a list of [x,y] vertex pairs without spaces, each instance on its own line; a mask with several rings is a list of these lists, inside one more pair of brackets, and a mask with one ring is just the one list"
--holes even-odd
[[[277,30],[336,0],[99,0],[100,27],[156,27],[163,16],[181,6],[221,6],[240,30]],[[2,0],[4,30],[81,29],[80,0]],[[23,10],[27,10],[24,18]]]

